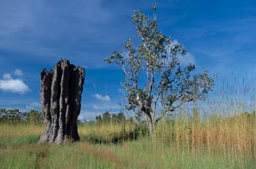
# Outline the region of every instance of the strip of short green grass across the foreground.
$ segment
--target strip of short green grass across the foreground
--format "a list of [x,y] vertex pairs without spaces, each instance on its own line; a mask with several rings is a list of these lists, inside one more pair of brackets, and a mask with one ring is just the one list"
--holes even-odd
[[38,136],[1,138],[0,168],[256,168],[220,149],[181,149],[148,138],[120,144],[37,144]]

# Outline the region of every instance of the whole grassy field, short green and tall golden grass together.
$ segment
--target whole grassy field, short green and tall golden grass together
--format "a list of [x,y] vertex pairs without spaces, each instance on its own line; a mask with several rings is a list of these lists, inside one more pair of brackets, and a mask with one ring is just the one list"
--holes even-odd
[[78,128],[80,142],[48,145],[43,126],[0,124],[0,168],[256,168],[254,114],[165,120],[154,142],[132,122]]

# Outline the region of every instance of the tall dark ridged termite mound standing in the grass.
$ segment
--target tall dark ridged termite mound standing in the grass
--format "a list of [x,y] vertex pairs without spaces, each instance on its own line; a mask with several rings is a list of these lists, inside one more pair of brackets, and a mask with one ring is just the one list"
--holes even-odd
[[60,60],[53,70],[41,72],[41,104],[45,132],[40,142],[79,141],[77,119],[85,78],[84,68]]

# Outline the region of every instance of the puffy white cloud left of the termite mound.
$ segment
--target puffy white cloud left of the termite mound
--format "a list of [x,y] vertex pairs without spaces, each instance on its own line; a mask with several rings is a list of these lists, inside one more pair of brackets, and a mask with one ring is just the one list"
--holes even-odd
[[10,74],[4,74],[3,79],[0,79],[0,90],[23,94],[29,91],[29,86],[21,79],[12,79]]

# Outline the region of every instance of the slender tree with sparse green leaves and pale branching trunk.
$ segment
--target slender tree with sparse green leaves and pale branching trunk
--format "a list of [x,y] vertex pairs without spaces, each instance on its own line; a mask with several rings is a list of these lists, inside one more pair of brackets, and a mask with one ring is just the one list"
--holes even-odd
[[155,15],[151,18],[136,10],[132,21],[140,39],[138,47],[135,48],[129,38],[124,44],[124,52],[115,51],[105,61],[116,63],[124,71],[126,108],[145,115],[149,133],[154,137],[155,125],[167,112],[175,111],[184,103],[206,98],[214,79],[208,76],[208,71],[195,74],[192,63],[181,65],[180,57],[186,57],[187,50],[158,31]]

